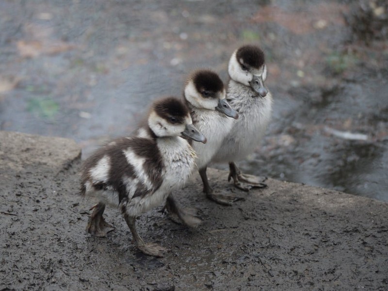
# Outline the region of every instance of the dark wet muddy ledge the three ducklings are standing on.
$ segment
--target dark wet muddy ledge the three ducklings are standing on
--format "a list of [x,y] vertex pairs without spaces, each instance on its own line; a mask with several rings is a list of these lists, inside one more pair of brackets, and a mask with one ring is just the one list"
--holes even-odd
[[175,193],[199,208],[188,229],[161,208],[138,220],[162,259],[139,253],[124,219],[107,238],[85,233],[94,201],[78,195],[80,147],[71,140],[0,131],[0,290],[387,290],[388,204],[268,180],[235,191],[210,171],[217,191],[245,197],[232,207],[207,200],[195,176]]

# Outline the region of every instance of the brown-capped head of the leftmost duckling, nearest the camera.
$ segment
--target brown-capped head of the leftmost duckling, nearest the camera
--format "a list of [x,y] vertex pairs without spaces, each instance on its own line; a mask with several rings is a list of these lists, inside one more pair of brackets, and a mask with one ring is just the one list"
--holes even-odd
[[176,97],[156,100],[148,114],[148,126],[157,137],[186,136],[206,143],[206,137],[193,126],[187,106]]

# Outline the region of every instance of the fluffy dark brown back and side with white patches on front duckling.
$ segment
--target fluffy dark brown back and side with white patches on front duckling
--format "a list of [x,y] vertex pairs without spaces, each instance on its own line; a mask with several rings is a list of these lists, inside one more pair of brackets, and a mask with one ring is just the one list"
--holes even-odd
[[129,202],[133,197],[144,197],[159,189],[162,169],[162,157],[154,140],[119,138],[84,162],[81,193],[87,192],[87,188],[113,190],[118,200],[114,201]]

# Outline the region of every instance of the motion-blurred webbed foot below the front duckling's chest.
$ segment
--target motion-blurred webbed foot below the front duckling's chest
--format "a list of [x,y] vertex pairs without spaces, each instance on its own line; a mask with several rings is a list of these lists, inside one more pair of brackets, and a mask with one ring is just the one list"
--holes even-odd
[[166,210],[170,214],[170,219],[176,223],[178,222],[178,219],[183,221],[183,223],[189,227],[197,227],[202,223],[202,220],[200,220],[198,217],[196,217],[196,209],[193,208],[187,208],[182,209],[178,205],[177,201],[175,201],[172,194],[168,195],[166,200]]

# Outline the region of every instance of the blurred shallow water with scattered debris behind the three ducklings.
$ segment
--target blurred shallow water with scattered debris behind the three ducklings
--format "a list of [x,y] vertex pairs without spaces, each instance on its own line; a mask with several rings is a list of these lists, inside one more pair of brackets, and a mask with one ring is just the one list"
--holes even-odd
[[388,201],[386,0],[1,0],[0,31],[0,129],[82,158],[259,44],[274,116],[242,170]]

